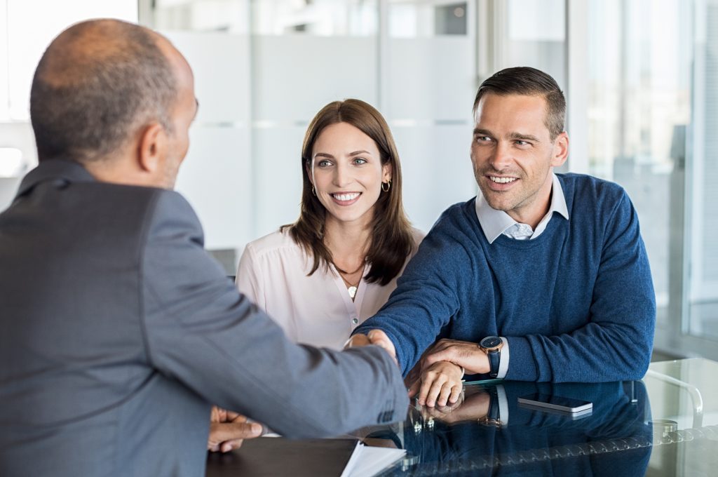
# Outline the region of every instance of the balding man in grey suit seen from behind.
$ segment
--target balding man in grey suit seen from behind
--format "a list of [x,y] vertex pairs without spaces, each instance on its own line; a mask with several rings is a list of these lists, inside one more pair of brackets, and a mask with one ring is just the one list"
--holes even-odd
[[202,249],[171,191],[196,111],[185,58],[133,24],[40,60],[39,166],[0,214],[1,476],[200,476],[211,404],[288,437],[404,417],[386,351],[290,343]]

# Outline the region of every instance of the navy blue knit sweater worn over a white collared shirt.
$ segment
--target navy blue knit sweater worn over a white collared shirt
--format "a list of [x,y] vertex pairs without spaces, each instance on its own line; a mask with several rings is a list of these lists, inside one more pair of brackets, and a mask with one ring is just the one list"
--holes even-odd
[[439,338],[508,339],[506,379],[640,379],[656,300],[638,216],[622,187],[559,174],[569,220],[533,240],[489,244],[475,199],[439,218],[379,312],[354,333],[384,330],[404,374]]

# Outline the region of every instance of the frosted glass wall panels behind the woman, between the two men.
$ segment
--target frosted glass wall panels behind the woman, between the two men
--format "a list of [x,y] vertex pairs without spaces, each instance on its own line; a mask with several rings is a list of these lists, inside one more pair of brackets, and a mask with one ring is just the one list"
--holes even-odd
[[475,195],[475,1],[144,3],[141,20],[195,66],[200,115],[177,189],[202,217],[208,248],[241,248],[296,220],[304,131],[337,99],[360,98],[386,117],[414,226],[428,231]]

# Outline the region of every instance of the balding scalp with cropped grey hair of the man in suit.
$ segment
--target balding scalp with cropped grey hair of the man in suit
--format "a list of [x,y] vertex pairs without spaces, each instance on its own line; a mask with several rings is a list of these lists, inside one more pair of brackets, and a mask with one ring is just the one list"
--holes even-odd
[[152,121],[172,132],[178,57],[164,37],[135,24],[103,19],[66,29],[32,81],[39,159],[111,157]]

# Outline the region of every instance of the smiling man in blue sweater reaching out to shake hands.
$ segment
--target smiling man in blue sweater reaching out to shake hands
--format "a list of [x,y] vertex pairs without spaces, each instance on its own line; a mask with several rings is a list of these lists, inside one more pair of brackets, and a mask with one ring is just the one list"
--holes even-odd
[[480,193],[442,214],[389,301],[355,330],[396,353],[404,375],[419,361],[421,404],[455,402],[464,371],[577,382],[645,374],[656,302],[638,216],[619,185],[554,173],[569,152],[565,111],[539,70],[482,83],[471,143]]

